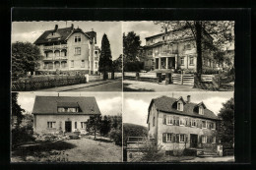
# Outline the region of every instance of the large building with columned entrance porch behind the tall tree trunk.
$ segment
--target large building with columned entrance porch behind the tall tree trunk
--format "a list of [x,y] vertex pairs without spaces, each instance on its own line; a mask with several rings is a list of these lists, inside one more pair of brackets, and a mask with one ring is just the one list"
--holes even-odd
[[[221,69],[209,48],[213,44],[213,37],[203,33],[202,42],[203,70]],[[146,50],[145,70],[196,72],[196,40],[189,28],[174,29],[146,37],[144,49]]]

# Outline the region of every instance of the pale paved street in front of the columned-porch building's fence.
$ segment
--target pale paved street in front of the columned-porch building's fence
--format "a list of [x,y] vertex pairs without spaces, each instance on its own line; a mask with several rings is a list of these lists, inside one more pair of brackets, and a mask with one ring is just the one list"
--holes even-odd
[[204,89],[194,88],[190,85],[164,85],[139,82],[139,81],[123,81],[124,91],[204,91]]

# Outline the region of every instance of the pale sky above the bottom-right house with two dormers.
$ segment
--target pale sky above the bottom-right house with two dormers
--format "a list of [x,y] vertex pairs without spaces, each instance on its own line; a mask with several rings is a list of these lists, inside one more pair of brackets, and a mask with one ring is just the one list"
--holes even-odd
[[[162,95],[172,97],[171,92],[124,93],[123,122],[147,127],[148,108],[150,102],[153,98],[157,98]],[[174,98],[182,96],[186,100],[187,95],[191,95],[190,100],[193,103],[199,103],[203,101],[206,107],[217,115],[223,107],[222,103],[233,97],[233,92],[173,92]]]

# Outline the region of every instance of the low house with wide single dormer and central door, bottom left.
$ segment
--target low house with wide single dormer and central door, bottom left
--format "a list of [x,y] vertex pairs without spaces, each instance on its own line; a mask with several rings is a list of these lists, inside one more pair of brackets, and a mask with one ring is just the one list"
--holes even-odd
[[101,114],[95,97],[35,96],[32,115],[36,133],[86,133],[90,116]]

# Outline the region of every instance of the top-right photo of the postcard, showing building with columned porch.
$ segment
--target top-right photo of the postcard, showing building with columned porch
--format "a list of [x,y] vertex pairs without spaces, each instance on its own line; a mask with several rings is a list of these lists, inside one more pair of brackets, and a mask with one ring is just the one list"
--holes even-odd
[[233,91],[233,21],[123,22],[124,91]]

